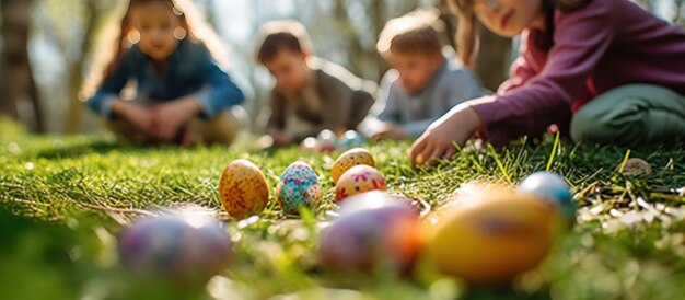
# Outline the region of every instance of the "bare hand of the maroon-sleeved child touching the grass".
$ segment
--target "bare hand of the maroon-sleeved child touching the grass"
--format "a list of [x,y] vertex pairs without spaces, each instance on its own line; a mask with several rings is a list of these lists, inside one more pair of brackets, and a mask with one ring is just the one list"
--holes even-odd
[[464,146],[480,128],[476,111],[458,105],[433,122],[411,146],[413,166],[433,164],[436,159],[451,159],[456,153],[454,145]]

